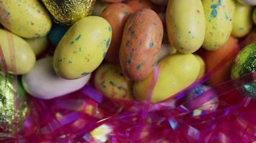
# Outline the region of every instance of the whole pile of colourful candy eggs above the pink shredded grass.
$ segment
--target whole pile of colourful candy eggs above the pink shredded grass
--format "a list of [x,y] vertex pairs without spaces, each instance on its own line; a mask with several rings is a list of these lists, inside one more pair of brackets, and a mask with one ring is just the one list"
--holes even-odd
[[232,78],[256,70],[247,60],[255,60],[254,44],[249,54],[244,48],[237,56],[243,48],[239,39],[255,32],[255,5],[255,0],[1,1],[1,70],[22,75],[24,89],[40,99],[75,92],[93,74],[94,87],[106,97],[144,100],[157,68],[151,100],[160,102],[225,57],[229,61],[208,86],[229,80],[234,61]]

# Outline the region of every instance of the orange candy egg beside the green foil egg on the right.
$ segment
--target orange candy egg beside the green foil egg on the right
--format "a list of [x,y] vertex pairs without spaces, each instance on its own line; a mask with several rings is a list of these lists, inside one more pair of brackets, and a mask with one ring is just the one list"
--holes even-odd
[[206,51],[205,61],[206,70],[210,71],[221,62],[222,59],[227,61],[218,67],[217,71],[208,80],[211,85],[221,84],[222,82],[227,82],[230,79],[230,71],[233,61],[239,52],[239,46],[237,44],[237,39],[229,37],[229,40],[224,44],[224,46],[219,47],[216,51]]

